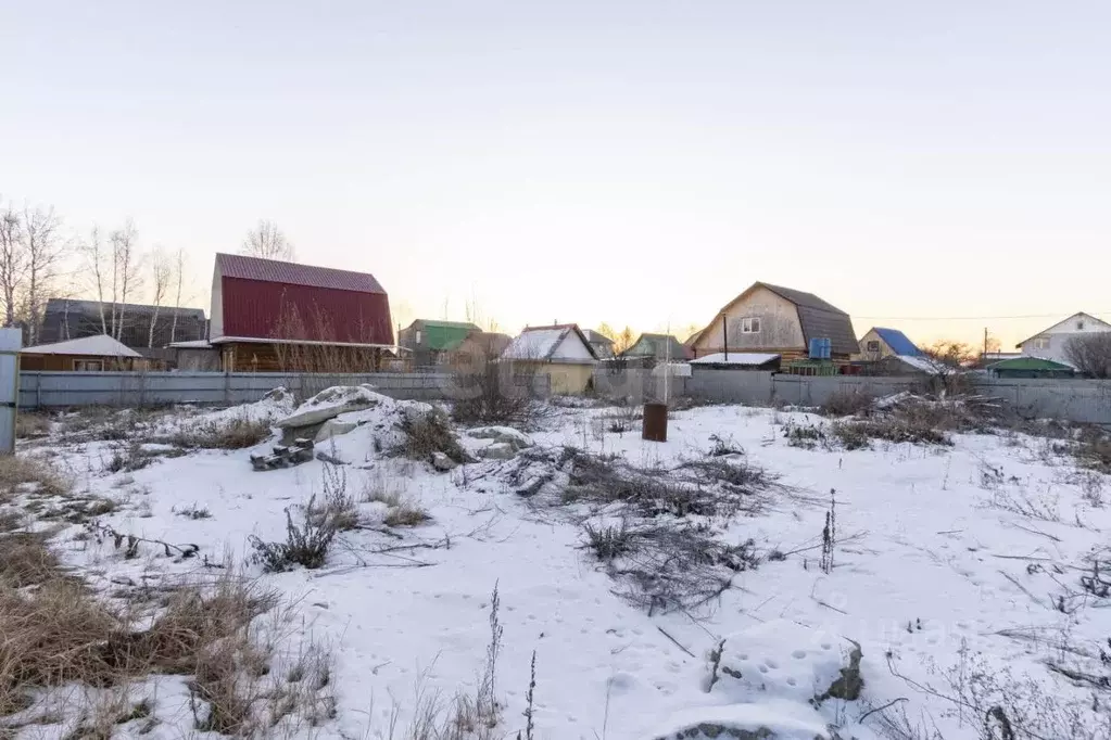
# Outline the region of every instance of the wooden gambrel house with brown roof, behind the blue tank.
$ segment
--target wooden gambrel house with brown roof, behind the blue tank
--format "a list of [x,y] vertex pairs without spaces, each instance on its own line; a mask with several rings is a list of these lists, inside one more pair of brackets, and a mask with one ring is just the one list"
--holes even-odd
[[725,304],[689,341],[695,357],[724,353],[774,353],[787,363],[809,356],[811,339],[829,339],[830,358],[848,363],[859,352],[849,314],[812,293],[753,283]]

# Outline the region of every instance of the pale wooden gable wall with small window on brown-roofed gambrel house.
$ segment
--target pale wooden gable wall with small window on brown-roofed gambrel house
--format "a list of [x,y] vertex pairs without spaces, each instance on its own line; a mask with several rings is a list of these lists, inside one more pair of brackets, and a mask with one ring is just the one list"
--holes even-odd
[[[759,321],[759,331],[751,320]],[[745,321],[749,320],[749,321]],[[807,341],[794,304],[765,287],[758,287],[725,310],[729,348],[737,351],[805,349]],[[717,316],[694,343],[698,355],[721,352],[724,346],[721,316]]]

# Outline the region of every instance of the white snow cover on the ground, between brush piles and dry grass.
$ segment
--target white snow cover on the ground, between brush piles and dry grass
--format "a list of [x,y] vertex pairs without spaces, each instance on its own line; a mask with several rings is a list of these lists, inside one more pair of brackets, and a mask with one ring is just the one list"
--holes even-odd
[[[232,413],[271,422],[292,410],[284,401],[266,404],[181,423]],[[723,543],[752,539],[760,560],[733,574],[717,598],[651,615],[634,606],[583,547],[580,526],[584,517],[620,511],[518,495],[512,473],[520,458],[481,457],[482,447],[498,444],[488,438],[463,436],[477,462],[449,472],[391,457],[399,439],[391,419],[404,410],[388,399],[346,414],[363,425],[318,446],[346,463],[338,467],[314,459],[254,472],[250,455],[269,452],[277,435],[256,448],[160,456],[114,474],[104,467],[119,442],[56,435],[20,454],[49,455],[82,495],[119,501],[99,517],[113,530],[196,544],[203,556],[164,557],[154,547],[129,559],[111,543],[74,538],[81,525],[59,534],[66,561],[106,592],[113,584],[203,571],[203,558],[243,561],[252,537],[284,539],[286,509],[321,496],[338,475],[363,524],[338,536],[324,567],[262,574],[257,564],[244,566],[296,602],[283,650],[312,642],[332,651],[336,717],[306,736],[384,737],[391,717],[398,728],[412,719],[418,695],[473,693],[497,586],[503,635],[494,686],[503,711],[493,737],[513,738],[526,727],[533,651],[536,738],[651,740],[700,723],[709,723],[704,737],[719,726],[808,740],[832,732],[899,737],[881,733],[885,714],[921,730],[904,737],[937,730],[953,740],[984,737],[978,712],[997,704],[1011,718],[1055,712],[1037,726],[1040,737],[1108,737],[1107,689],[1083,678],[1108,675],[1100,656],[1111,649],[1107,589],[1099,575],[1094,588],[1082,585],[1091,558],[1105,557],[1111,529],[1103,476],[1015,434],[955,435],[952,446],[805,449],[791,446],[784,428],[828,420],[709,406],[674,413],[669,440],[651,443],[639,426],[611,432],[623,424],[601,418],[623,413],[552,408],[530,435],[531,449],[571,446],[661,470],[725,444],[743,449],[727,456],[733,463],[778,476],[763,510],[704,517]],[[362,500],[366,491],[387,491],[431,518],[387,527],[386,505]],[[833,562],[825,572],[831,501]],[[198,511],[206,514],[190,515]],[[854,646],[862,655],[859,698],[817,701]],[[188,698],[172,688],[179,679],[166,680],[171,688],[159,692],[162,724],[152,737],[188,737]],[[26,731],[49,737],[42,726]]]

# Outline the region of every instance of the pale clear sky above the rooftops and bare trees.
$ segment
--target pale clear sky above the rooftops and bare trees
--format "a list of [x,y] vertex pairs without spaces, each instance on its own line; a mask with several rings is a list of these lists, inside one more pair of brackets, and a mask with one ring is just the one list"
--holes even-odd
[[132,217],[206,308],[266,217],[403,320],[1111,320],[1107,0],[2,6],[0,194]]

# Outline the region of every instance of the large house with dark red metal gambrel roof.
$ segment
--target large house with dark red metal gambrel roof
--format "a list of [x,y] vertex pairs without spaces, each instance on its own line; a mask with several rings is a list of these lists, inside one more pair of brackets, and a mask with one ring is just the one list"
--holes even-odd
[[224,372],[367,372],[393,345],[368,273],[217,254],[210,343]]

